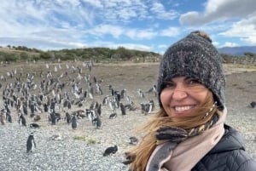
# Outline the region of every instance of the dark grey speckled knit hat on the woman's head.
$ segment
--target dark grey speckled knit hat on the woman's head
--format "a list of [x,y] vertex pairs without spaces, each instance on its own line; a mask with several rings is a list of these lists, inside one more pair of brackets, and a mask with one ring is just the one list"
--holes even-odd
[[218,108],[224,109],[225,77],[222,58],[206,33],[193,31],[166,50],[160,62],[157,83],[159,102],[166,82],[178,76],[197,79],[212,91]]

